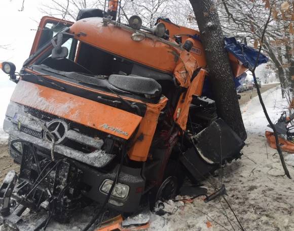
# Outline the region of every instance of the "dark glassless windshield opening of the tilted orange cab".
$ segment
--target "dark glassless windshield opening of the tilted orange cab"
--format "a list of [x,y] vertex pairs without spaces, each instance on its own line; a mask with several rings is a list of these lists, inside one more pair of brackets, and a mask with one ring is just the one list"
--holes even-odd
[[[48,51],[47,55],[43,55],[43,57],[34,63],[33,69],[43,74],[65,77],[67,81],[102,88],[102,90],[109,89],[109,83],[101,80],[107,80],[111,75],[150,78],[157,81],[161,86],[164,86],[165,89],[168,89],[168,85],[173,84],[170,74],[144,67],[143,65],[107,53],[73,38],[65,39],[62,46],[66,47],[69,51],[66,58],[53,59],[51,57],[51,51]],[[115,90],[120,94],[123,93],[123,90]],[[144,92],[144,89],[142,89],[142,92]],[[140,94],[140,92],[132,90],[129,93],[131,95]],[[141,96],[143,98],[150,97],[144,93]]]

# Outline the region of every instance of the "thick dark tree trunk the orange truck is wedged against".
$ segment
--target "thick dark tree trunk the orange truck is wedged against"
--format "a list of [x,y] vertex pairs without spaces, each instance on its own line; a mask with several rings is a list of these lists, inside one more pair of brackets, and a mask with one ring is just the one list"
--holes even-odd
[[213,0],[190,0],[205,48],[213,95],[218,116],[246,140],[239,101],[233,81],[224,35]]

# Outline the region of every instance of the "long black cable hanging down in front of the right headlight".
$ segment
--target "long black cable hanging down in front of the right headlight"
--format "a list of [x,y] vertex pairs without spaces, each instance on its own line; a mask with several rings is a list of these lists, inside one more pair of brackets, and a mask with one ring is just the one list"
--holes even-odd
[[[120,166],[118,168],[118,171],[117,171],[117,174],[116,174],[116,178],[111,186],[111,189],[108,191],[107,193],[107,196],[102,204],[102,206],[100,207],[98,213],[92,218],[92,220],[89,222],[89,224],[83,229],[83,231],[87,231],[89,230],[89,228],[97,221],[97,219],[99,218],[99,216],[102,214],[102,212],[104,213],[104,208],[106,206],[106,204],[108,203],[110,197],[111,197],[111,194],[113,193],[113,190],[117,184],[117,181],[119,179],[119,176],[120,176],[120,173],[121,173],[121,170],[122,170],[122,166],[123,166],[123,161],[124,161],[124,158],[125,158],[125,155],[126,155],[127,151],[126,151],[126,145],[124,144],[123,145],[123,150],[122,150],[122,159],[121,159],[121,162],[120,162]],[[99,224],[97,226],[100,226],[102,222],[102,219],[100,219],[99,221]]]

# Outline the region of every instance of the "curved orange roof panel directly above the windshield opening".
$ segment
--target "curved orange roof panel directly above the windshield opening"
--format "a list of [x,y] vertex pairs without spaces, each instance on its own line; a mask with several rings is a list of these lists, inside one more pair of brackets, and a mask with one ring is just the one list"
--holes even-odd
[[76,35],[86,34],[76,37],[82,42],[163,72],[172,73],[177,62],[178,55],[171,46],[149,38],[133,41],[132,32],[112,24],[104,25],[102,18],[79,20],[70,31]]

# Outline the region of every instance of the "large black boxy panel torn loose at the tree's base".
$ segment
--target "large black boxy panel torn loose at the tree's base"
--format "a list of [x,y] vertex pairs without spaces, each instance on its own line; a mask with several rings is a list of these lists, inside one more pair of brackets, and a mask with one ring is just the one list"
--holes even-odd
[[198,181],[226,162],[241,156],[245,143],[222,120],[217,119],[193,137],[194,147],[180,157],[180,161]]

